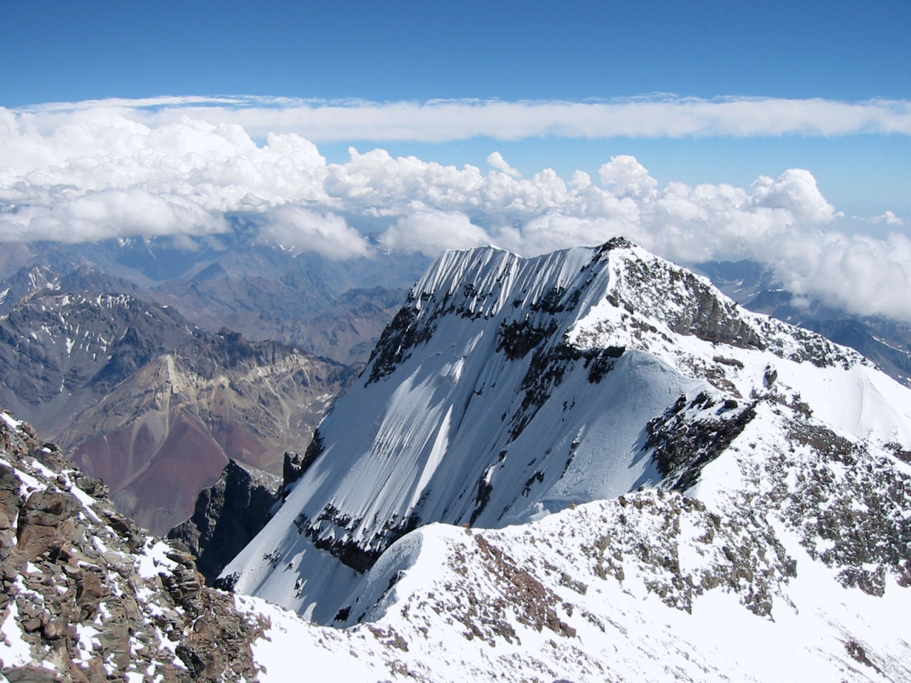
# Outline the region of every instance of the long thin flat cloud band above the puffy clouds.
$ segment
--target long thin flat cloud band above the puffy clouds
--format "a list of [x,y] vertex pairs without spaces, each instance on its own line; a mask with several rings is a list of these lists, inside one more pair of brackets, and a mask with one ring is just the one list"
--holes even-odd
[[[160,97],[57,103],[16,110],[38,129],[62,117],[102,108],[149,127],[186,117],[241,126],[254,138],[296,133],[314,142],[420,140],[476,136],[540,138],[755,137],[799,134],[911,134],[911,102],[874,99],[651,96],[568,101],[433,100],[324,101],[278,97]],[[2,130],[3,123],[0,123]]]

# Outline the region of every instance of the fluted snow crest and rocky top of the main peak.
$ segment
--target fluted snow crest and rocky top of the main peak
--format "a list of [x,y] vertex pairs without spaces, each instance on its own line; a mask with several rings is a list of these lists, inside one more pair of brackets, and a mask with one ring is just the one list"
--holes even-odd
[[[391,337],[391,342],[420,342],[439,316],[450,313],[472,320],[501,316],[505,331],[509,325],[515,326],[512,331],[520,326],[540,329],[536,323],[549,316],[558,318],[564,341],[578,349],[617,346],[648,351],[671,362],[686,358],[686,370],[710,381],[717,372],[692,358],[704,355],[695,352],[704,345],[681,348],[681,336],[767,350],[818,366],[865,362],[857,352],[814,332],[743,310],[707,278],[623,238],[534,259],[494,247],[447,251],[411,291],[401,317],[406,313],[410,328]],[[394,353],[405,351],[402,344],[394,347]],[[384,352],[386,357],[369,369],[372,379],[387,370],[390,360],[381,342],[374,356]],[[722,373],[732,367],[713,359],[714,355],[711,361],[722,366]]]

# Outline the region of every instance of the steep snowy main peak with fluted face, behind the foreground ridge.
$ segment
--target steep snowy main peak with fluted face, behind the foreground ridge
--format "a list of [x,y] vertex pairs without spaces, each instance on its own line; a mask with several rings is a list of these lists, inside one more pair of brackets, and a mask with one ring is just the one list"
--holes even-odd
[[448,252],[225,580],[333,623],[419,525],[503,527],[643,485],[698,490],[763,401],[875,446],[911,443],[908,393],[855,352],[742,311],[626,240],[530,260]]

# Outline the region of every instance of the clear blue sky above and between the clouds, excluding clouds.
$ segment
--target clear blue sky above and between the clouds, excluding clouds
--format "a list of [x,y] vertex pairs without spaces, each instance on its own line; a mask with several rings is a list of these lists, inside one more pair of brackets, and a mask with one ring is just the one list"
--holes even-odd
[[[4,2],[0,106],[258,95],[374,102],[911,97],[904,2]],[[351,140],[483,165],[499,145]],[[332,161],[348,141],[321,144]],[[809,168],[848,214],[911,218],[908,136],[559,137],[510,142],[523,173],[632,154],[661,182],[746,185]]]

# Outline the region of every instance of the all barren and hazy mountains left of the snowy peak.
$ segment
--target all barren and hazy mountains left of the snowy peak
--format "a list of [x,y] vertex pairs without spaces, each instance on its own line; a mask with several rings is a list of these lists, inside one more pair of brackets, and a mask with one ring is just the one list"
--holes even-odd
[[276,472],[305,450],[404,296],[372,284],[395,280],[384,264],[336,266],[242,229],[19,246],[3,265],[0,401],[158,534],[229,459]]

